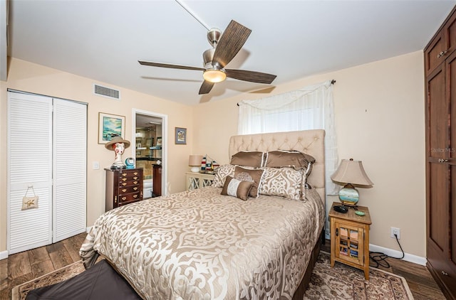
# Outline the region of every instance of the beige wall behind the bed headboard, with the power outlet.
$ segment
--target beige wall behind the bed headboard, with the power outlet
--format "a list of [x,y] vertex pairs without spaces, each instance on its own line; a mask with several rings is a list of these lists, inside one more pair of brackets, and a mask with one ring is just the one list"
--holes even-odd
[[[336,80],[339,159],[363,161],[374,183],[359,189],[359,205],[368,206],[373,221],[371,244],[400,250],[390,238],[390,227],[400,227],[404,251],[425,257],[423,52],[303,78],[273,94],[325,80]],[[226,164],[229,136],[237,134],[237,102],[266,96],[246,93],[194,108],[195,114],[211,112],[194,119],[194,152]]]

